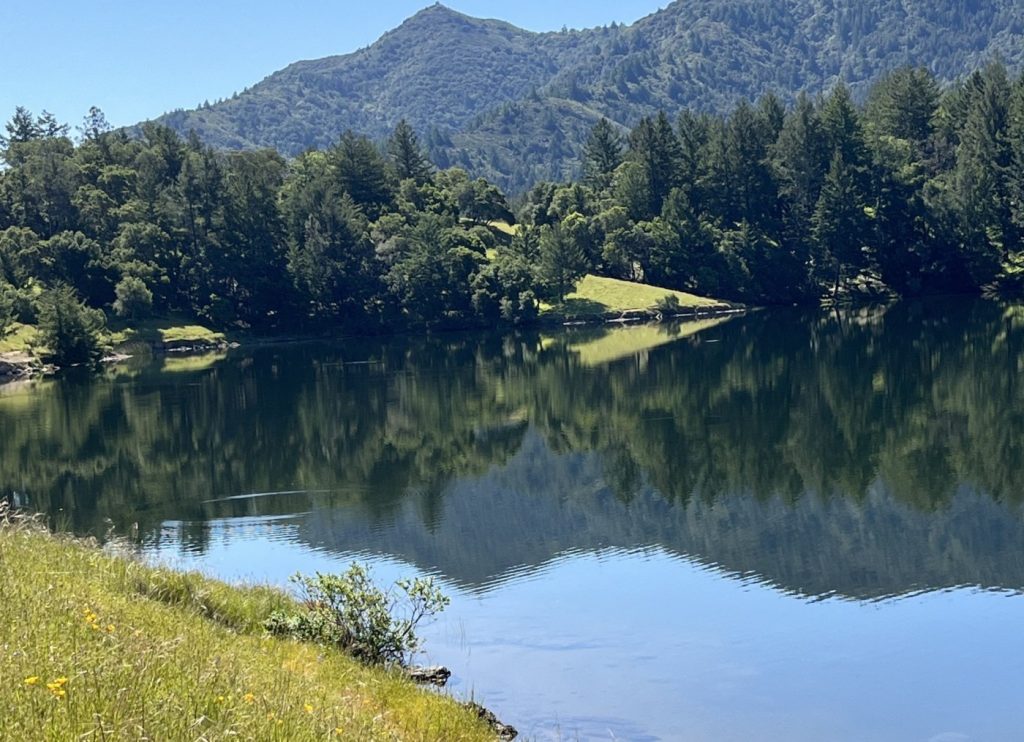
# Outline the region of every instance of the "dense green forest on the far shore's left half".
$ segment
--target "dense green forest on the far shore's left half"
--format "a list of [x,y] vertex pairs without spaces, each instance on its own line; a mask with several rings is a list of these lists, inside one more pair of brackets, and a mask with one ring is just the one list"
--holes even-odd
[[[159,125],[133,139],[95,110],[77,145],[48,115],[19,108],[6,129],[5,323],[70,318],[72,293],[126,319],[181,313],[255,331],[373,332],[537,311],[525,250],[487,257],[499,238],[524,242],[484,226],[513,219],[505,198],[461,170],[433,172],[408,126],[386,152],[346,133],[292,162],[217,152]],[[79,324],[89,324],[82,311]]]

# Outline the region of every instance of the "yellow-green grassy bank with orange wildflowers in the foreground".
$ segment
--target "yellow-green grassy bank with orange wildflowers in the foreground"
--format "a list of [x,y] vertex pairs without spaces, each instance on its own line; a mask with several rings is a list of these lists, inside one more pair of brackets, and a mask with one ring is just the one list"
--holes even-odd
[[0,739],[493,739],[403,678],[265,636],[273,590],[7,524],[0,598]]

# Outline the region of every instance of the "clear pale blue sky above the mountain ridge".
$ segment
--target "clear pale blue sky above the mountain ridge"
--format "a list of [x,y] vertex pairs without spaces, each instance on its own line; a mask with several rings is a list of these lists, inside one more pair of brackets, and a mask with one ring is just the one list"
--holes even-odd
[[[7,0],[0,119],[15,105],[114,125],[228,97],[299,59],[367,46],[431,0]],[[450,0],[532,31],[633,23],[668,0]]]

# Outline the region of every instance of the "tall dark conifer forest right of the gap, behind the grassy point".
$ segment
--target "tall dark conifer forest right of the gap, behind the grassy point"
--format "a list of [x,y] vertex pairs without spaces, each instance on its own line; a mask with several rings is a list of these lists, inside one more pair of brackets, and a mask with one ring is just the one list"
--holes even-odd
[[902,69],[863,106],[840,84],[625,136],[605,120],[585,164],[522,210],[584,270],[752,303],[1021,286],[1024,81],[999,62],[945,90]]

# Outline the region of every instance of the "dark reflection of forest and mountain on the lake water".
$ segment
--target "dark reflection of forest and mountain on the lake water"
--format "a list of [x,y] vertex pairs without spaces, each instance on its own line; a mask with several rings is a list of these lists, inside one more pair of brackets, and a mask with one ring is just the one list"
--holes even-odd
[[1024,587],[1020,309],[699,330],[265,348],[23,388],[0,396],[0,491],[79,531],[161,542],[178,521],[193,552],[208,521],[288,516],[312,548],[470,590],[651,545],[810,597]]

